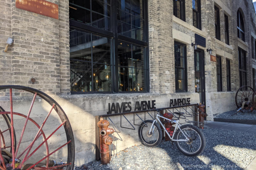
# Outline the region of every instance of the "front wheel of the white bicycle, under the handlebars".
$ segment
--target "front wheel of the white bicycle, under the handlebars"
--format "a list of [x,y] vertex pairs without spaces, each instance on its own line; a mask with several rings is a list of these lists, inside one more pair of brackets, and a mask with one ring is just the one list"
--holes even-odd
[[[145,123],[144,123],[145,122]],[[153,124],[153,120],[146,120],[140,124],[139,128],[139,138],[142,144],[145,146],[154,148],[160,144],[162,140],[162,130],[158,123],[154,123],[154,130],[151,134],[148,134],[151,125]]]

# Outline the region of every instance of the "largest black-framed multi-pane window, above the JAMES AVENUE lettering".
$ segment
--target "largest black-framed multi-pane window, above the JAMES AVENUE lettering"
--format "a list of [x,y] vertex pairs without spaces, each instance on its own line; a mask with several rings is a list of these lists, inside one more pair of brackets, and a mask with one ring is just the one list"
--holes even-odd
[[147,0],[69,0],[71,93],[148,92]]

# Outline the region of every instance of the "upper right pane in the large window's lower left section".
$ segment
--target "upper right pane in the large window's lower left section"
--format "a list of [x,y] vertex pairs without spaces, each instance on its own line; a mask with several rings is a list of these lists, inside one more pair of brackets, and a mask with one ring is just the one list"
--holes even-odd
[[111,38],[92,34],[92,61],[111,63]]

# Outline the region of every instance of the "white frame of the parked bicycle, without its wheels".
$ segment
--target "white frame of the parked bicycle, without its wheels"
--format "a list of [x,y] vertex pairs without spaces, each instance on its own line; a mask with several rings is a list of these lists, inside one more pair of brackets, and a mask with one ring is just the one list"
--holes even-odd
[[[165,127],[164,127],[164,125],[163,125],[163,123],[159,120],[159,118],[158,117],[161,117],[161,118],[163,118],[163,119],[166,119],[166,120],[168,120],[168,121],[170,121],[170,122],[172,122],[172,123],[175,123],[176,124],[176,126],[175,126],[175,129],[174,129],[174,131],[173,131],[173,134],[172,134],[172,137],[170,136],[170,134],[169,134],[169,132],[165,129]],[[164,117],[164,116],[161,116],[158,112],[157,112],[157,114],[156,114],[156,119],[153,121],[153,123],[152,123],[152,125],[151,125],[151,127],[150,127],[150,129],[149,129],[149,134],[152,132],[152,131],[154,131],[154,129],[155,129],[155,126],[153,127],[153,125],[154,125],[154,123],[156,122],[157,123],[157,121],[161,124],[161,126],[163,127],[163,129],[164,129],[164,131],[166,132],[166,134],[168,135],[168,137],[171,139],[171,141],[188,141],[189,139],[188,139],[188,134],[184,131],[182,131],[181,129],[180,129],[180,126],[179,126],[179,120],[172,120],[172,119],[168,119],[168,118],[166,118],[166,117]],[[176,131],[177,131],[177,129],[178,128],[180,129],[180,131],[182,132],[182,134],[186,137],[186,140],[180,140],[180,139],[173,139],[174,138],[174,135],[175,135],[175,133],[176,133]],[[153,128],[153,130],[152,130],[152,128]],[[185,135],[185,134],[186,135]]]

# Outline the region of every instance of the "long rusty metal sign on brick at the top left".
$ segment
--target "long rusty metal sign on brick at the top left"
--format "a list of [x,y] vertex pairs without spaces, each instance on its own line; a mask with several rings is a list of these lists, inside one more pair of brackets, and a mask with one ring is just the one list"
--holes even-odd
[[59,19],[59,5],[45,0],[16,0],[16,8]]

